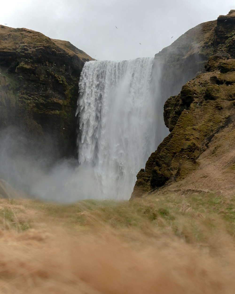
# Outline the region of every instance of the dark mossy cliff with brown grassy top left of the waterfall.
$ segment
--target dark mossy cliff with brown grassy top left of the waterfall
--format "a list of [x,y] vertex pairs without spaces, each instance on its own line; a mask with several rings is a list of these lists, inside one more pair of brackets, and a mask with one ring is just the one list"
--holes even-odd
[[78,80],[93,60],[67,41],[0,26],[0,128],[48,135],[58,157],[75,155]]

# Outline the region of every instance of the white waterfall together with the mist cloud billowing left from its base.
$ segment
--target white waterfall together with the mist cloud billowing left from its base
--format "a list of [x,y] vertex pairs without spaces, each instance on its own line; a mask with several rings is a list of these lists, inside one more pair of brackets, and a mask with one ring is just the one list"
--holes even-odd
[[85,64],[78,97],[78,159],[63,158],[50,134],[1,133],[0,178],[31,197],[71,203],[129,199],[136,175],[169,133],[153,58]]

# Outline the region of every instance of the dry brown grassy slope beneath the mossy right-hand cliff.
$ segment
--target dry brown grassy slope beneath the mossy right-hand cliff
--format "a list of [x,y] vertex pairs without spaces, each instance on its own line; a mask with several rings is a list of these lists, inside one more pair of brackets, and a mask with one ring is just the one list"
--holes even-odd
[[[209,148],[198,158],[199,167],[182,181],[172,183],[162,190],[190,188],[234,195],[234,123],[219,131],[209,143]],[[160,192],[162,193],[162,191]]]

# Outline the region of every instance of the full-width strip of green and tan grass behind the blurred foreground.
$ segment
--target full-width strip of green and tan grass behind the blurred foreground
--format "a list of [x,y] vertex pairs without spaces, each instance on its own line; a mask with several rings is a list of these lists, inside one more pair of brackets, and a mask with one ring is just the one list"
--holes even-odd
[[209,194],[152,195],[133,201],[83,200],[64,205],[30,199],[1,199],[2,229],[62,226],[94,230],[108,226],[128,238],[128,231],[159,238],[174,236],[187,243],[207,243],[213,235],[235,234],[235,199]]

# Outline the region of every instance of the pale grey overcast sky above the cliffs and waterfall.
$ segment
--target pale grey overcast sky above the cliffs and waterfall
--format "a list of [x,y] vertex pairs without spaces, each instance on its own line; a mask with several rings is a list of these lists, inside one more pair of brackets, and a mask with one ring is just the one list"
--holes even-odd
[[233,0],[8,0],[0,24],[70,41],[98,60],[128,60],[153,57],[231,9]]

